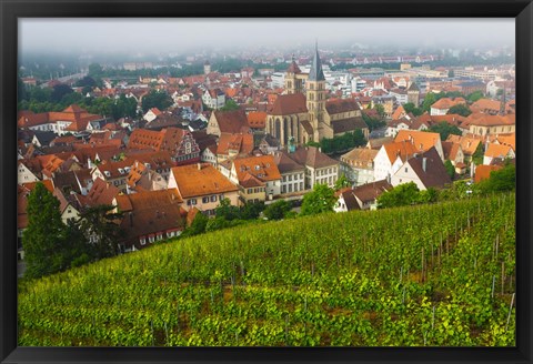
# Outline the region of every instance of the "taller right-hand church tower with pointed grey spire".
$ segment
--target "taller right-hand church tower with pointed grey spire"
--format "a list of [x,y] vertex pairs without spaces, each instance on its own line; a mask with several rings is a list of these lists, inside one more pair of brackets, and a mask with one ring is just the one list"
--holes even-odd
[[325,113],[325,78],[322,71],[322,62],[319,55],[319,44],[315,46],[313,63],[309,71],[309,77],[305,82],[309,122],[313,127],[313,140],[320,142],[322,136],[321,123],[324,121]]

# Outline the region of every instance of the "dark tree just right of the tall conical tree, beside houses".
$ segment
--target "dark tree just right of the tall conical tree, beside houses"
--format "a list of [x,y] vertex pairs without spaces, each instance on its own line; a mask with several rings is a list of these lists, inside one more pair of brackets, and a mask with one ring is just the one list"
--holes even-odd
[[79,226],[92,244],[93,256],[97,260],[113,256],[119,253],[118,242],[123,236],[118,221],[122,213],[113,213],[112,205],[97,205],[83,211]]

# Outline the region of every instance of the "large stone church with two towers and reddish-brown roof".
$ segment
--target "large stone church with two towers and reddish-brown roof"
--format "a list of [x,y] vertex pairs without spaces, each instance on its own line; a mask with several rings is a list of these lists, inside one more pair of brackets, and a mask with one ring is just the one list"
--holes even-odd
[[353,99],[326,99],[326,81],[318,46],[309,73],[303,73],[294,57],[285,71],[285,92],[276,98],[266,113],[266,132],[282,146],[301,145],[323,138],[369,129]]

